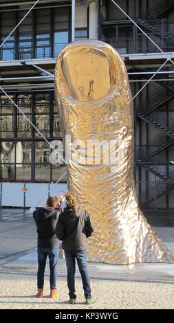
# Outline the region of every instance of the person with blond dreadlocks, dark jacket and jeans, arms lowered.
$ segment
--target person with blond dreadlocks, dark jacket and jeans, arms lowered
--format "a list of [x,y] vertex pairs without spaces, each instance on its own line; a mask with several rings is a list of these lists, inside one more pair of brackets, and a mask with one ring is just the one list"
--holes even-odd
[[56,236],[63,241],[67,265],[67,286],[69,289],[69,303],[76,303],[75,294],[75,259],[83,281],[86,304],[95,302],[91,298],[91,287],[87,271],[87,237],[94,231],[89,213],[78,207],[74,193],[65,195],[67,206],[60,214],[56,225]]

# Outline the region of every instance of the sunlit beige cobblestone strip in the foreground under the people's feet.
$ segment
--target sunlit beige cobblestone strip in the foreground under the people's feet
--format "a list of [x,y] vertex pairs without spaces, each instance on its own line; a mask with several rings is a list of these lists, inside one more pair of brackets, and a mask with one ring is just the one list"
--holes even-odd
[[36,298],[32,275],[0,274],[0,309],[174,309],[174,285],[116,280],[91,280],[96,303],[85,305],[80,279],[76,279],[76,305],[67,303],[65,278],[58,279],[58,298],[50,299],[48,278],[45,297]]

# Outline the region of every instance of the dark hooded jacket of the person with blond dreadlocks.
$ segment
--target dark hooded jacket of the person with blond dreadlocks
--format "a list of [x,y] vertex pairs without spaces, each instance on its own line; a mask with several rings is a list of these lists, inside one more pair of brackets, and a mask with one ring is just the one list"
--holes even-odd
[[89,213],[78,208],[77,214],[69,205],[59,215],[56,224],[56,236],[63,241],[62,247],[67,252],[78,252],[87,248],[87,237],[94,231]]

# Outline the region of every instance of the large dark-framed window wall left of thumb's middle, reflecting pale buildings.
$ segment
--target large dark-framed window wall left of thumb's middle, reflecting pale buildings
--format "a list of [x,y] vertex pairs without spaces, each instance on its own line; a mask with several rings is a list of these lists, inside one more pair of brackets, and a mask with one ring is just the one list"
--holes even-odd
[[[61,140],[53,92],[15,94],[11,98],[49,142]],[[6,96],[1,96],[0,121],[1,181],[51,182],[63,175],[65,165],[50,164],[50,146]]]

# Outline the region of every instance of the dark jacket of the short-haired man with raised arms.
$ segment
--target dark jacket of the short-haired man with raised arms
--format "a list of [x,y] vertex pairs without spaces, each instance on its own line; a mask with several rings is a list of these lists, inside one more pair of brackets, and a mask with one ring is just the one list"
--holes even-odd
[[33,212],[38,233],[38,247],[54,248],[58,246],[55,228],[61,212],[63,212],[63,201],[56,209],[37,208]]

